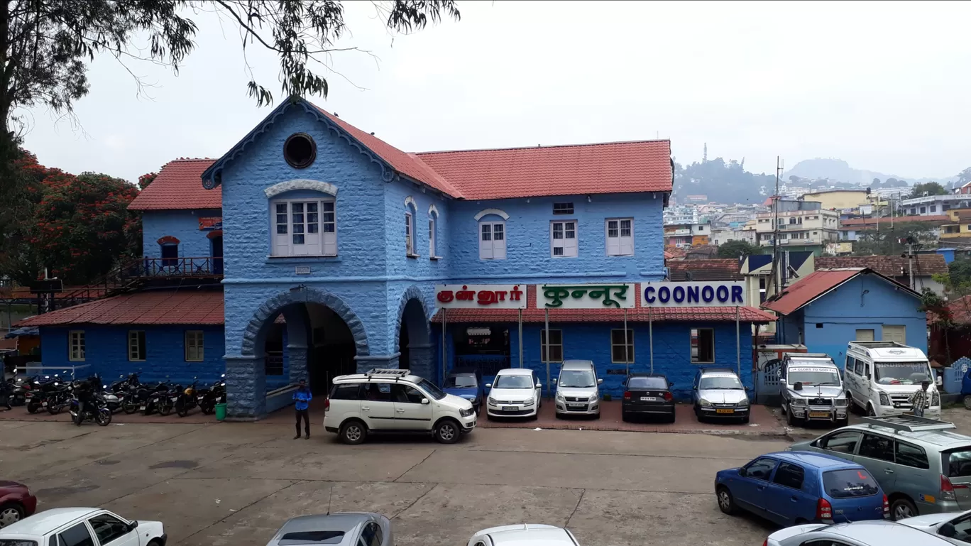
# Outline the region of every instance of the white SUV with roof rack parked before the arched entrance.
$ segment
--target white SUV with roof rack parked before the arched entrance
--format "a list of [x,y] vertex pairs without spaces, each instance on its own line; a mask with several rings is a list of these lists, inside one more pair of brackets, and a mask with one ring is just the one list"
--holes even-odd
[[452,444],[476,427],[476,412],[469,400],[408,370],[373,369],[334,378],[323,427],[348,444],[359,444],[372,432],[431,433]]

